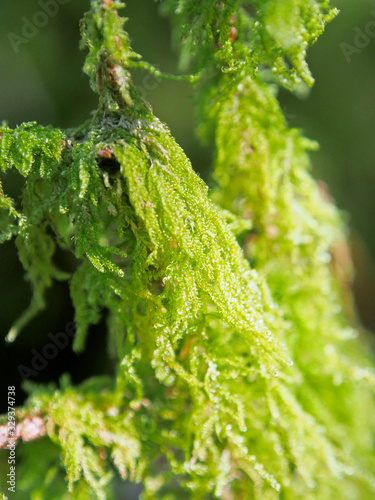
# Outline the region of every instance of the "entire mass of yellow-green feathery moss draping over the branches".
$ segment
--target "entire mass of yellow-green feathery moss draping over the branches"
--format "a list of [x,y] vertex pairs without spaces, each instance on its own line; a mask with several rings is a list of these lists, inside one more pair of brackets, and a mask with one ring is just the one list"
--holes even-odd
[[1,192],[2,238],[16,236],[34,288],[10,340],[66,278],[59,245],[78,258],[75,349],[106,308],[118,363],[115,381],[32,388],[20,415],[43,415],[48,438],[22,445],[20,498],[115,498],[117,471],[144,499],[370,499],[374,371],[330,266],[343,224],[275,87],[312,82],[306,47],[334,11],[163,3],[196,75],[200,131],[215,138],[210,197],[132,86],[132,67],[154,69],[117,2],[93,0],[82,24],[93,119],[0,130],[2,170],[26,178],[21,206]]

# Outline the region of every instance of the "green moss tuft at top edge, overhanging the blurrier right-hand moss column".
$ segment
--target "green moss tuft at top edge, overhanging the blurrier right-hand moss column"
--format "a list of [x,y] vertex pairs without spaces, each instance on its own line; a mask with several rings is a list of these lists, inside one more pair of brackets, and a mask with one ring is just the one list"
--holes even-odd
[[162,0],[173,18],[183,67],[224,73],[261,74],[287,88],[313,78],[306,49],[337,14],[317,0]]

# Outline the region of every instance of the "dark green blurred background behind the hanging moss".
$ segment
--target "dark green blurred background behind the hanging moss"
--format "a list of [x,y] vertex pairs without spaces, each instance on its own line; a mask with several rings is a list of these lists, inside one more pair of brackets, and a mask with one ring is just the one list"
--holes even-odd
[[[89,1],[64,1],[46,25],[24,43],[17,37],[23,36],[27,22],[41,12],[40,5],[47,0],[0,0],[0,120],[12,127],[34,120],[72,127],[95,109],[96,96],[81,72],[84,53],[78,50],[79,20]],[[283,91],[280,100],[290,125],[302,128],[321,145],[312,157],[314,175],[328,184],[349,221],[357,269],[357,308],[365,326],[375,330],[375,0],[342,0],[337,5],[341,14],[309,51],[316,85],[304,99]],[[161,70],[176,73],[170,26],[159,15],[157,3],[132,0],[125,13],[134,49]],[[43,16],[36,19],[43,24]],[[360,35],[366,30],[371,36]],[[189,84],[158,82],[144,74],[135,77],[156,115],[168,123],[194,168],[208,179],[212,151],[203,148],[195,136],[196,115]],[[7,242],[0,247],[1,338],[27,307],[30,295],[14,243]],[[40,352],[47,334],[64,330],[73,319],[67,283],[56,283],[47,295],[46,311],[15,343],[3,342],[1,346],[1,381],[4,386],[17,387],[18,405],[25,394],[17,367],[30,367],[32,349]],[[92,328],[85,353],[76,355],[68,347],[31,379],[57,381],[69,371],[78,383],[92,374],[111,373],[105,348],[103,320]],[[1,394],[3,412],[5,390]]]

